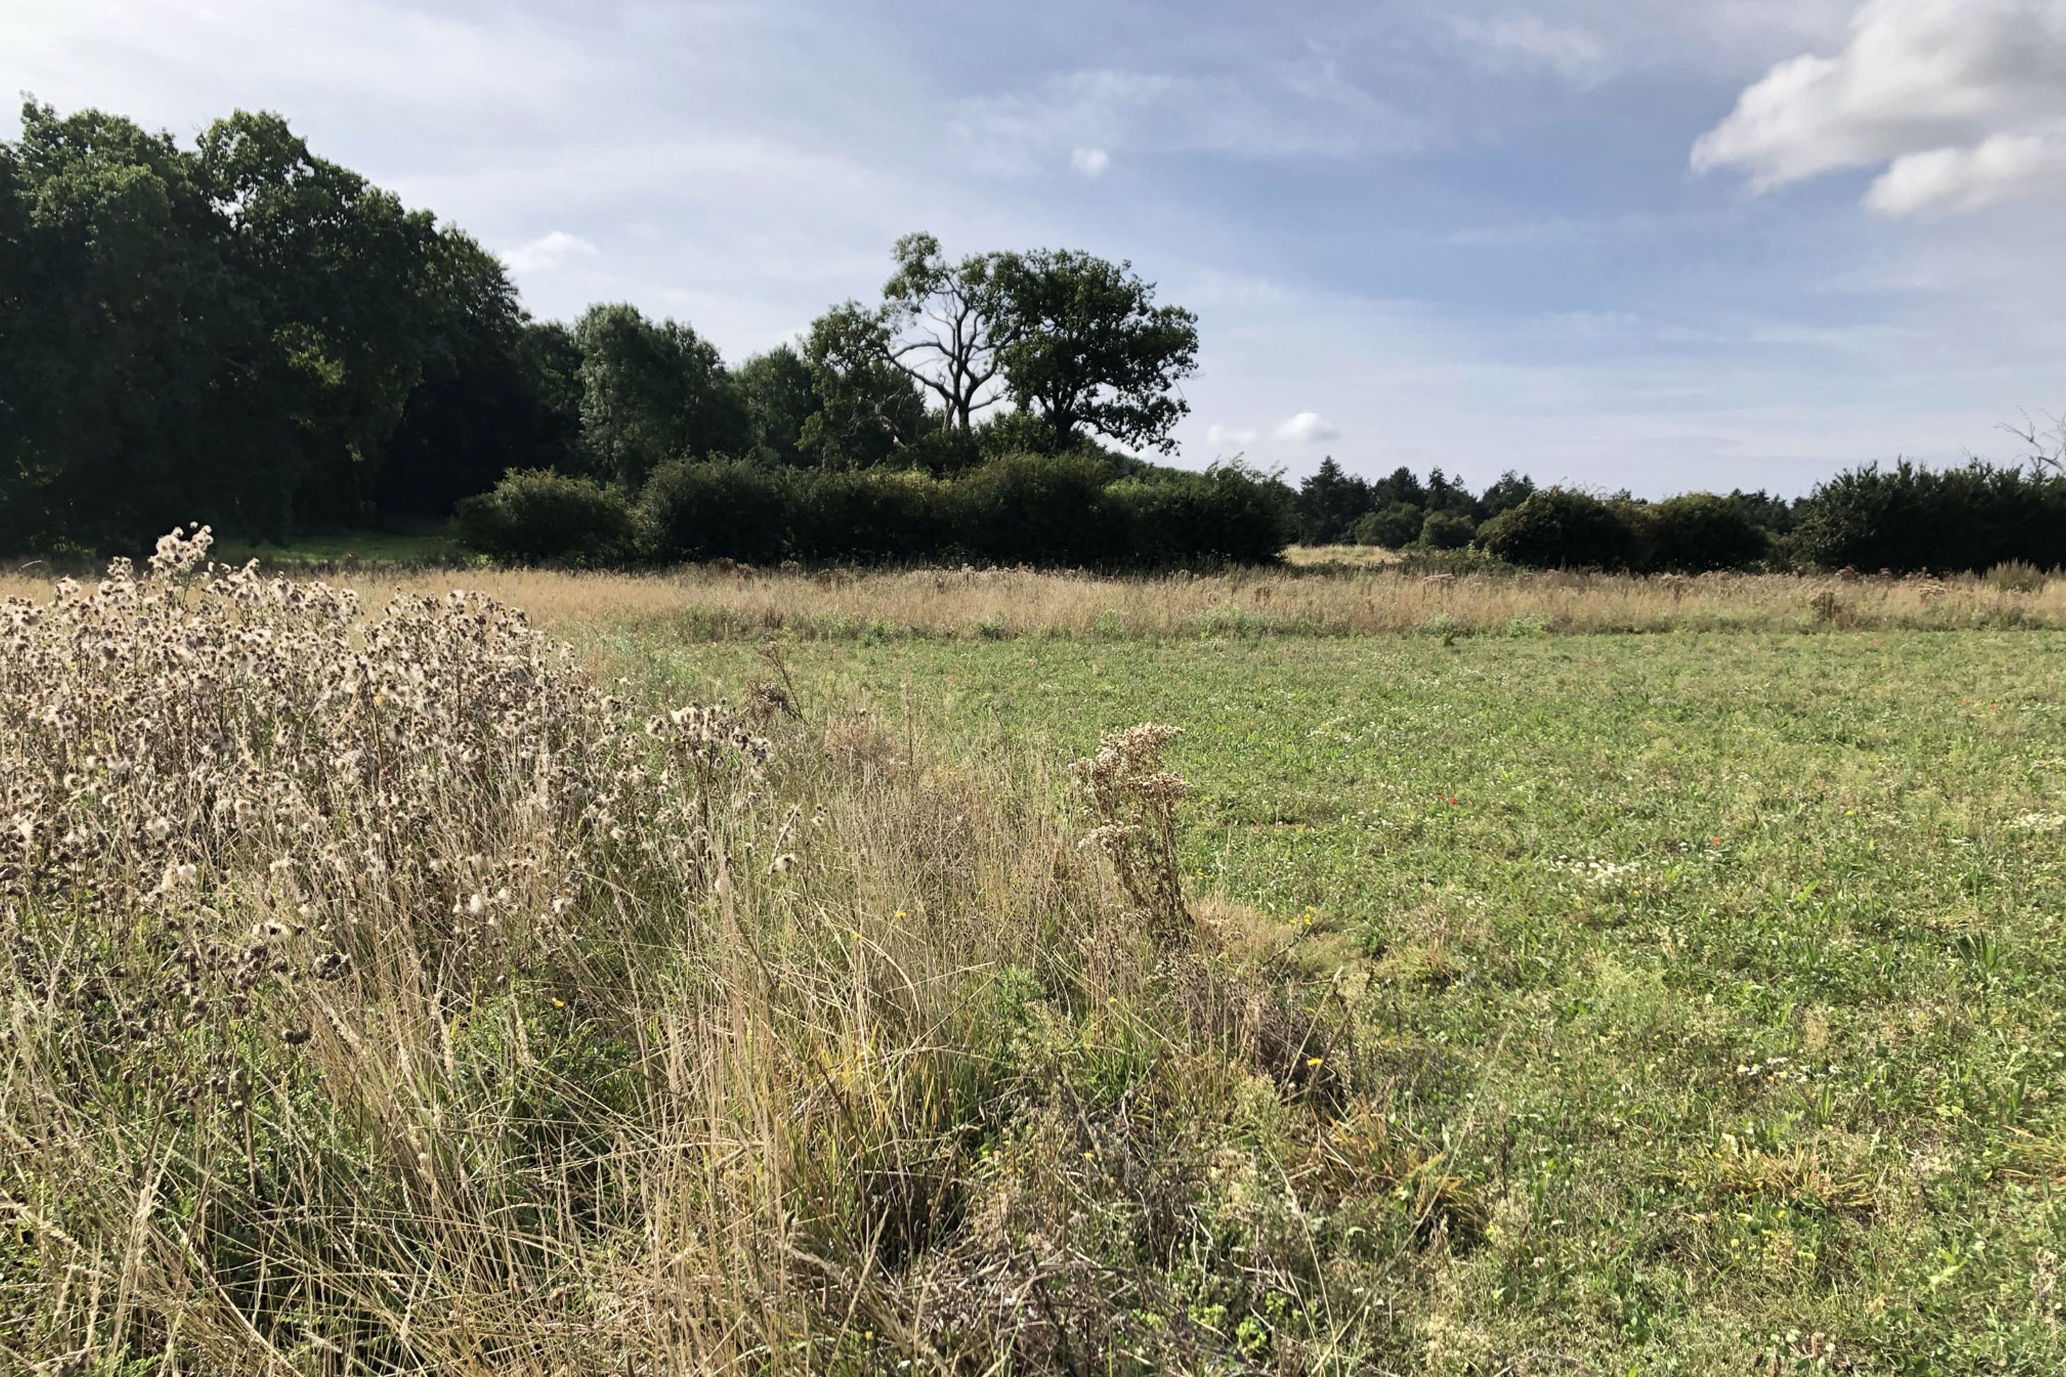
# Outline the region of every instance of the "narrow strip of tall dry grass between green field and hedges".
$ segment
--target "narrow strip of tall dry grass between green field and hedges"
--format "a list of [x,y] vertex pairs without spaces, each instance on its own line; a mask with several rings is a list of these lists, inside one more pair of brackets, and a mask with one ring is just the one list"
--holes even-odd
[[[444,588],[452,574],[405,576]],[[2062,628],[2066,580],[1797,574],[1407,574],[1238,570],[1099,578],[1027,570],[467,574],[560,623],[688,638],[843,636],[1374,636],[1506,632],[1787,632]],[[368,593],[382,580],[362,578]],[[397,580],[386,580],[388,588]]]

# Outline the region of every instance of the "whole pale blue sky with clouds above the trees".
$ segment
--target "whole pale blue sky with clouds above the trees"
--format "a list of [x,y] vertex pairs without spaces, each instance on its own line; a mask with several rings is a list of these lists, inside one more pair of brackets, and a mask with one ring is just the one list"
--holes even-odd
[[1190,467],[1791,495],[2066,407],[2066,0],[6,0],[0,89],[277,109],[733,361],[913,229],[1126,258]]

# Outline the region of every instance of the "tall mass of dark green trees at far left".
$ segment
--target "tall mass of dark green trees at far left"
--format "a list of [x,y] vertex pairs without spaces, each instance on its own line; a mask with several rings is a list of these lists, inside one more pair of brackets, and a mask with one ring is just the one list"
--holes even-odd
[[29,103],[0,167],[0,535],[17,543],[362,520],[426,365],[457,378],[514,314],[500,264],[277,116],[180,149]]

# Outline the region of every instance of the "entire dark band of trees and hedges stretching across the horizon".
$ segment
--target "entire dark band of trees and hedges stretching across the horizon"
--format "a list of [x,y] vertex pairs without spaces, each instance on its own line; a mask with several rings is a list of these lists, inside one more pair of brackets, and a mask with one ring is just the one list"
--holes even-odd
[[[107,553],[457,516],[519,562],[1266,562],[1289,541],[1519,566],[2066,564],[2058,465],[1868,467],[1797,502],[1471,491],[1169,456],[1196,318],[1126,262],[901,239],[876,301],[727,363],[502,262],[271,114],[192,147],[27,103],[0,142],[0,549]],[[2043,454],[2039,456],[2043,458]],[[2052,454],[2056,458],[2056,454]]]

